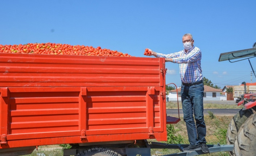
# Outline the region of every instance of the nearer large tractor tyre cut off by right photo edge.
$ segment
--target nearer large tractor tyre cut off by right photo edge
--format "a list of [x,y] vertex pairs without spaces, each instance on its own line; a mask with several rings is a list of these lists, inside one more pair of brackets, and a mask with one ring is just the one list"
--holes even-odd
[[256,114],[251,115],[240,127],[233,153],[235,156],[256,155]]

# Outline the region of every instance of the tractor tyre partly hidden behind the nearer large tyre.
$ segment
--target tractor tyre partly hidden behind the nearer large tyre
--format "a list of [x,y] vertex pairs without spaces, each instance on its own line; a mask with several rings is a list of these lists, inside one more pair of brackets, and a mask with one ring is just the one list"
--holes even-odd
[[[246,109],[240,109],[236,115],[231,119],[231,122],[227,129],[227,144],[231,145],[235,143],[238,131],[243,123],[252,115],[252,112]],[[229,152],[233,156],[233,152]]]

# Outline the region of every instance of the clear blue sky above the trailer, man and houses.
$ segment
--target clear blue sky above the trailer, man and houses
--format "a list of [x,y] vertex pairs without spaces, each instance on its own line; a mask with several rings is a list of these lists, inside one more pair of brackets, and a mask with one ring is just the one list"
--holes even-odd
[[[145,48],[164,54],[182,50],[182,35],[191,33],[202,51],[203,76],[221,89],[251,83],[248,60],[218,59],[223,52],[249,49],[256,42],[255,0],[2,0],[0,4],[1,45],[65,43],[145,57]],[[256,58],[250,60],[256,70]],[[168,62],[166,68],[166,84],[179,87],[178,64]]]

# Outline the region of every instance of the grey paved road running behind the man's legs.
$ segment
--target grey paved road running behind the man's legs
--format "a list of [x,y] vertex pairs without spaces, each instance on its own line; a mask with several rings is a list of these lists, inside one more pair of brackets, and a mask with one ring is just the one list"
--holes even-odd
[[[214,115],[235,115],[240,109],[204,109],[203,114],[209,115],[208,111],[211,111]],[[178,115],[178,109],[167,109],[166,114],[169,116]],[[182,109],[179,109],[179,115],[183,116]]]

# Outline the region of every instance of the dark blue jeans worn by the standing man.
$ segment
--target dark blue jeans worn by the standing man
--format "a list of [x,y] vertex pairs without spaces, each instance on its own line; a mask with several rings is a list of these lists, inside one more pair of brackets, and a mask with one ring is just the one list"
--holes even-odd
[[181,85],[183,119],[186,122],[187,134],[192,146],[206,143],[206,126],[203,118],[203,91],[203,83],[192,86]]

